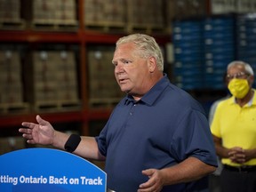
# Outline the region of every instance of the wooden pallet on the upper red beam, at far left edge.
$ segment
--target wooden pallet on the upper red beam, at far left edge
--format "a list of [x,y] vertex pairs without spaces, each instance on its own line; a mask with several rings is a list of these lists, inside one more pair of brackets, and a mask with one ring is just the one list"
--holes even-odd
[[23,30],[25,27],[25,20],[0,20],[2,30]]

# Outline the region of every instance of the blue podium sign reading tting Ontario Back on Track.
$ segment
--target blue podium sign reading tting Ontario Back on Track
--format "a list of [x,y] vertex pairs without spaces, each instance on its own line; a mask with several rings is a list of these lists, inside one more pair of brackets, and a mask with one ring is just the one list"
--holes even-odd
[[107,174],[62,150],[21,149],[0,156],[0,191],[106,192]]

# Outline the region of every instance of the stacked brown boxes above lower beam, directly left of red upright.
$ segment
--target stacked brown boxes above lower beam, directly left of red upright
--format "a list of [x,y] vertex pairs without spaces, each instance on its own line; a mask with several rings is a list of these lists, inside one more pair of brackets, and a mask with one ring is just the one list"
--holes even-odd
[[36,109],[64,110],[72,104],[79,106],[74,52],[33,52],[32,63],[30,100]]

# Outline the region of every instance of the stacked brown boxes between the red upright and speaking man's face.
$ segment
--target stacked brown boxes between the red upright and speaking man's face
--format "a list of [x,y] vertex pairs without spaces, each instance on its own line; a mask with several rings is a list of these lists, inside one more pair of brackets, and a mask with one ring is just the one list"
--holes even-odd
[[88,52],[89,102],[92,106],[116,104],[123,97],[112,64],[114,47],[95,47]]

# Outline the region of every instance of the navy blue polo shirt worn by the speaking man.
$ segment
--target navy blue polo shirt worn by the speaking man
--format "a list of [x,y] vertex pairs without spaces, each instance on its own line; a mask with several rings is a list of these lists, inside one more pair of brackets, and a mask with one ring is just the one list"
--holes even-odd
[[[96,140],[107,157],[108,188],[117,192],[137,191],[148,180],[142,170],[179,164],[188,156],[217,166],[204,109],[167,76],[141,100],[129,95],[121,100]],[[194,183],[166,186],[163,191],[190,186]]]

